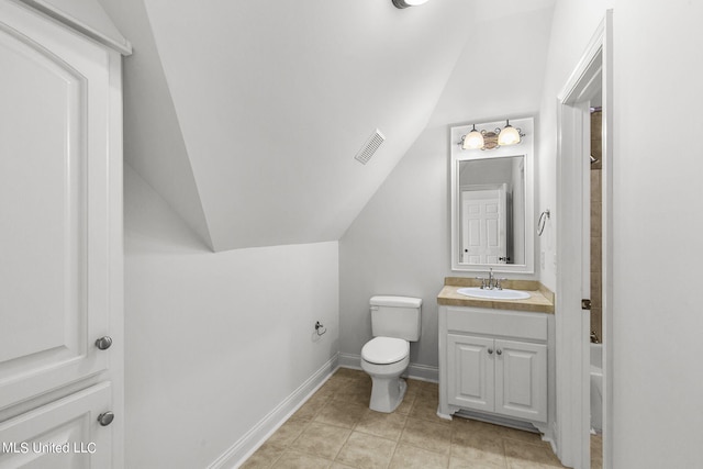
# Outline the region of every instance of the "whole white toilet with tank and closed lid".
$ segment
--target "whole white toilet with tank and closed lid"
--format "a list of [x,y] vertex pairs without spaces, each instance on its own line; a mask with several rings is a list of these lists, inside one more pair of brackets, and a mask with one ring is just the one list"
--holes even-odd
[[361,348],[361,369],[371,377],[369,407],[390,413],[408,389],[400,376],[410,364],[410,342],[420,339],[422,299],[372,297],[369,303],[373,338]]

